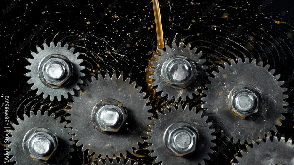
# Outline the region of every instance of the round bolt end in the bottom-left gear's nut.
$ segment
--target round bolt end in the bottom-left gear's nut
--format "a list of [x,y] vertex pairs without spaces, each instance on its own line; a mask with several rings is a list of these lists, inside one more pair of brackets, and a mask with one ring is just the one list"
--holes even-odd
[[31,148],[34,153],[38,155],[45,155],[51,150],[51,142],[47,137],[39,135],[34,137],[32,140]]

